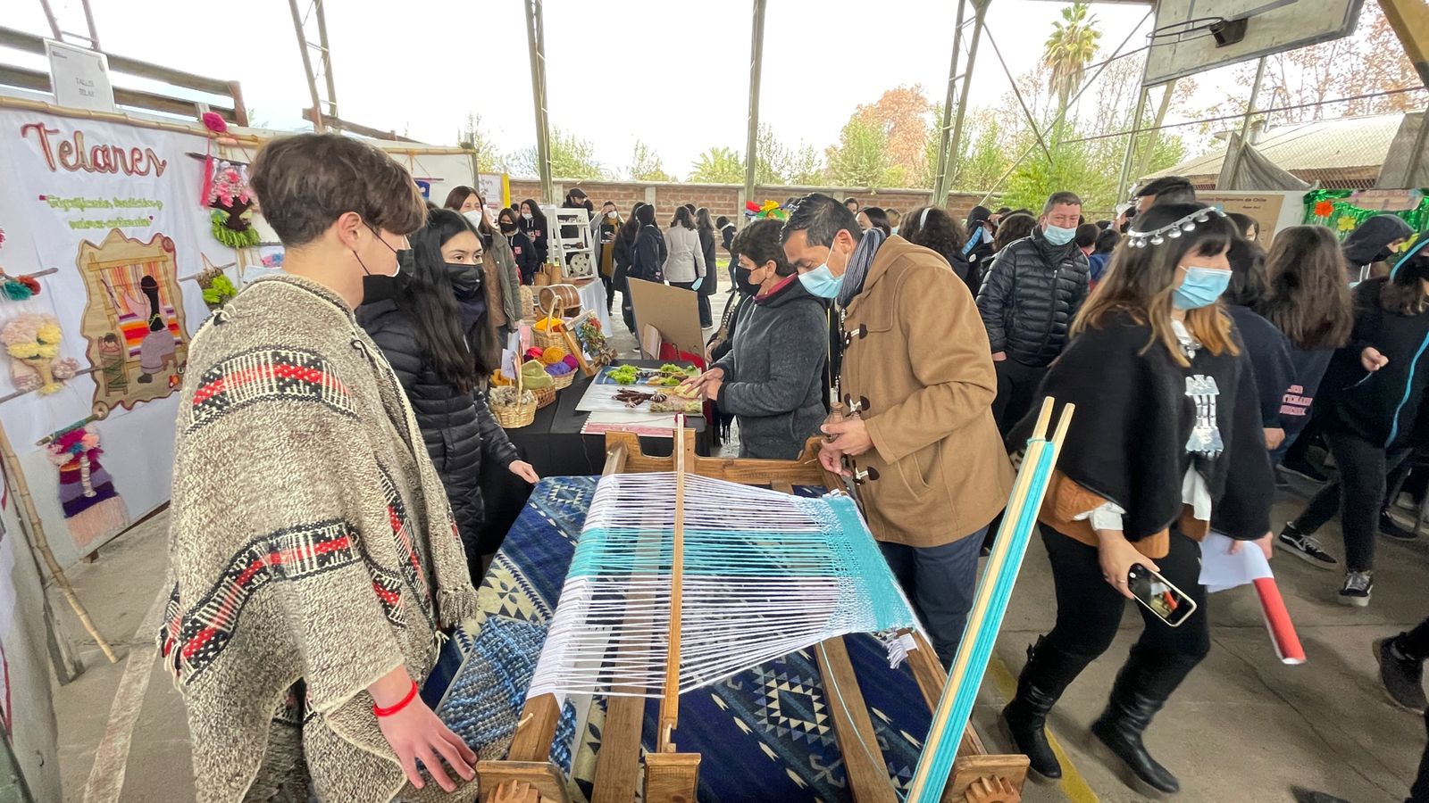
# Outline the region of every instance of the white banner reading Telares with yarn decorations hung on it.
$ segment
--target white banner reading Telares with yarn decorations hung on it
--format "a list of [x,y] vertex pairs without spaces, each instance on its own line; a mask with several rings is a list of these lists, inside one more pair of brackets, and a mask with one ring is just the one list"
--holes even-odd
[[[54,271],[37,277],[40,291],[27,300],[0,286],[9,351],[0,397],[17,394],[0,403],[0,424],[63,563],[103,543],[120,517],[169,500],[177,389],[189,339],[209,314],[193,277],[234,261],[200,201],[207,144],[196,134],[0,109],[0,269],[9,277]],[[57,344],[46,323],[63,333]],[[89,419],[99,442],[73,444],[70,464],[37,446]],[[86,513],[111,496],[110,477],[123,507]],[[74,543],[63,543],[66,532]]]

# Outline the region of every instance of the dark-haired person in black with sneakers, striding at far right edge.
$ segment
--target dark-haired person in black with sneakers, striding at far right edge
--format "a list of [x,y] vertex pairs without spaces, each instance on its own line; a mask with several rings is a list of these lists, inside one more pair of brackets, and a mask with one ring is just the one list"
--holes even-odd
[[[1276,244],[1283,236],[1276,234]],[[1279,537],[1298,557],[1335,569],[1333,557],[1310,553],[1305,542],[1338,510],[1346,569],[1339,602],[1356,607],[1369,604],[1375,587],[1375,529],[1385,516],[1385,477],[1412,450],[1429,386],[1426,244],[1429,239],[1420,240],[1388,277],[1355,286],[1353,331],[1330,359],[1320,383],[1325,390],[1315,402],[1315,422],[1339,466],[1339,482],[1320,489]]]

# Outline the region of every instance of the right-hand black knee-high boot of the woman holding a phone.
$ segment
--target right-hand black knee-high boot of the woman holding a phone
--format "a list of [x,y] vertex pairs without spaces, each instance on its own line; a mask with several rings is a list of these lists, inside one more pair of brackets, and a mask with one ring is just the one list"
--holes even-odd
[[1106,710],[1092,723],[1092,733],[1136,777],[1167,794],[1180,792],[1180,782],[1146,752],[1142,733],[1198,663],[1199,657],[1155,653],[1140,644],[1133,646],[1126,664],[1116,673]]

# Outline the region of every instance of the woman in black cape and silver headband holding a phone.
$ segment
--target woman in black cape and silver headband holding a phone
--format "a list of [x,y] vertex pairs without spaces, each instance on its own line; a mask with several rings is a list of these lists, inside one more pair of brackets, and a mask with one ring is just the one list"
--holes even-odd
[[[1043,732],[1047,712],[1112,644],[1137,567],[1196,612],[1137,607],[1145,630],[1092,732],[1146,786],[1177,792],[1142,733],[1210,649],[1198,542],[1215,527],[1236,549],[1252,540],[1270,554],[1275,483],[1255,379],[1219,300],[1235,239],[1232,223],[1200,204],[1139,214],[1042,383],[1042,394],[1076,404],[1039,514],[1057,617],[1027,649],[1003,719],[1045,777],[1062,776]],[[1027,430],[1030,419],[1012,437]]]

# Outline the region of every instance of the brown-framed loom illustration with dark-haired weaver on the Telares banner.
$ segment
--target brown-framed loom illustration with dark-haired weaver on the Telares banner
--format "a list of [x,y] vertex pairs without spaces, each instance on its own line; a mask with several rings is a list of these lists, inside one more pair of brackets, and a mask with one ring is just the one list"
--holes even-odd
[[173,240],[144,243],[114,229],[99,246],[81,243],[77,266],[89,291],[81,334],[96,367],[94,413],[174,393],[189,330]]

